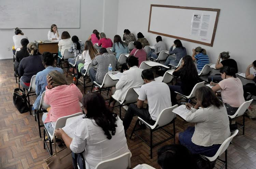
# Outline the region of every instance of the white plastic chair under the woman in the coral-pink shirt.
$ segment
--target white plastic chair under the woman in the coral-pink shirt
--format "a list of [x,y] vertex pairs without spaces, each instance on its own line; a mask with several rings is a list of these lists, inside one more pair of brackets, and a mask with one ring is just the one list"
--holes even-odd
[[[83,114],[82,112],[79,112],[79,113],[75,113],[75,114],[71,114],[71,115],[68,115],[68,116],[63,116],[63,117],[58,118],[57,121],[56,121],[55,127],[54,127],[54,131],[55,131],[55,129],[59,129],[59,128],[64,127],[66,125],[66,120],[68,118],[79,116],[79,115],[82,115],[82,114]],[[47,137],[48,137],[47,139],[45,138],[45,133],[47,134]],[[54,137],[54,133],[52,135],[51,133],[48,133],[48,131],[44,128],[44,139],[43,139],[43,141],[44,141],[44,149],[46,147],[47,151],[48,151],[48,153],[50,155],[53,155],[53,148],[52,148],[53,137]],[[47,140],[49,140],[49,147],[50,147],[50,149],[48,148],[48,146],[46,144]]]

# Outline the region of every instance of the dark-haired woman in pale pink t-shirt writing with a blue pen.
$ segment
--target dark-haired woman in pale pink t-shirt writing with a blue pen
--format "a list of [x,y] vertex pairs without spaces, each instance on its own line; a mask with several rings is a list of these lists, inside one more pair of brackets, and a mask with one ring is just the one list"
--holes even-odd
[[234,68],[225,66],[219,72],[223,80],[219,83],[210,82],[210,85],[214,86],[212,87],[214,92],[221,90],[221,99],[227,108],[228,115],[233,115],[245,102],[243,84],[239,78],[236,78]]

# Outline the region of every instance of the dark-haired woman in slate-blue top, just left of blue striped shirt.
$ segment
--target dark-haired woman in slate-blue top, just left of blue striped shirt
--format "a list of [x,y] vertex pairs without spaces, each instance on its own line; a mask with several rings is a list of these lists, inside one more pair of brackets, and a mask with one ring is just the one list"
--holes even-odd
[[[174,50],[173,46],[176,46],[176,48]],[[172,64],[174,66],[177,66],[180,62],[180,60],[187,55],[187,50],[185,47],[182,46],[182,43],[179,39],[174,40],[173,45],[171,46],[170,50],[169,50],[169,54],[175,54],[175,57],[173,56],[169,56],[167,58],[167,60],[165,61],[166,66],[169,66],[169,64]]]

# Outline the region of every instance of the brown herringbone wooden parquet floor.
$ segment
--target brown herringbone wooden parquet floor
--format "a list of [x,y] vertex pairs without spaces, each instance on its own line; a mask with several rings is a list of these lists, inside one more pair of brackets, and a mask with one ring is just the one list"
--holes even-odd
[[[67,78],[69,82],[71,77]],[[25,168],[45,168],[43,159],[49,157],[43,149],[42,138],[39,137],[38,125],[34,121],[34,116],[29,112],[20,114],[13,105],[12,92],[18,84],[13,75],[12,59],[0,60],[0,169],[25,169]],[[83,93],[83,87],[78,85]],[[86,90],[90,90],[87,88]],[[102,92],[105,98],[106,92]],[[32,100],[35,97],[32,98]],[[119,109],[114,111],[119,114]],[[125,110],[122,109],[122,116]],[[137,118],[134,117],[132,124],[127,132],[130,136],[131,130]],[[241,118],[238,121],[241,122]],[[185,130],[188,126],[193,126],[177,118],[175,121],[176,132]],[[167,127],[172,132],[172,125]],[[145,139],[149,140],[149,131],[138,131]],[[166,138],[167,135],[162,131],[153,135],[153,143]],[[131,165],[146,163],[157,169],[157,150],[163,145],[173,144],[173,139],[163,143],[153,149],[153,159],[150,159],[150,148],[143,143],[137,136],[132,139],[127,137],[128,147],[131,150]],[[223,157],[223,155],[222,155]],[[232,144],[228,148],[228,168],[229,169],[253,169],[256,168],[256,120],[246,117],[245,135],[239,131]]]

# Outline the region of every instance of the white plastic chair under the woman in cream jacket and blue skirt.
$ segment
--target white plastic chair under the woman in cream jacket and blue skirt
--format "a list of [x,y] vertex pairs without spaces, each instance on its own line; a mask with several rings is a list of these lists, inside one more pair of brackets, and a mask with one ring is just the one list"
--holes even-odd
[[221,147],[219,147],[218,151],[216,152],[216,154],[213,157],[207,157],[204,155],[200,155],[200,157],[202,157],[204,160],[208,161],[208,162],[213,162],[215,161],[215,159],[217,159],[223,152],[225,152],[225,160],[219,159],[220,161],[222,161],[224,164],[222,166],[222,168],[225,166],[225,168],[227,169],[227,148],[230,144],[230,142],[232,141],[232,139],[234,138],[234,136],[236,136],[238,133],[238,130],[234,131],[234,133],[228,137],[222,144]]

